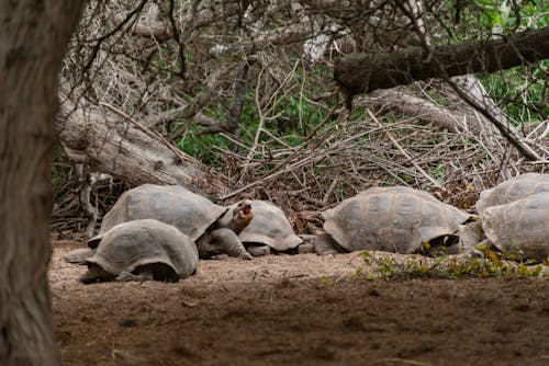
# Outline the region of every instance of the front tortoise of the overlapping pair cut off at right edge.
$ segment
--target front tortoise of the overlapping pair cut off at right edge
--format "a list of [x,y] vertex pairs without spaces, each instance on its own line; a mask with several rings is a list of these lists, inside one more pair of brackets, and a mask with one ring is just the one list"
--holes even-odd
[[461,240],[469,254],[495,247],[512,259],[548,260],[549,192],[483,208],[480,221],[468,225]]

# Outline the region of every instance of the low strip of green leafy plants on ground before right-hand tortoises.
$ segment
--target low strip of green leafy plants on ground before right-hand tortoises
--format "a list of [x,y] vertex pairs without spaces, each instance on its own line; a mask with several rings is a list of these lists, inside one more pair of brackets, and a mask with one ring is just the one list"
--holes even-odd
[[369,252],[363,252],[361,256],[365,260],[365,266],[357,270],[355,278],[368,281],[548,276],[547,271],[544,271],[546,264],[527,265],[524,262],[475,258],[457,259],[455,256],[440,256],[433,261],[419,255],[411,255],[404,261],[396,261],[390,255],[373,258]]

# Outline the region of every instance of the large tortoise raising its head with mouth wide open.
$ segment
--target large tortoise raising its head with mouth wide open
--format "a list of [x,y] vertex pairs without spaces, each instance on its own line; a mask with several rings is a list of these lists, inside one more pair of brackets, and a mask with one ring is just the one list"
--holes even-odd
[[254,217],[249,201],[234,207],[219,206],[180,185],[143,184],[124,192],[103,217],[99,235],[88,241],[91,251],[80,250],[65,259],[82,263],[92,255],[105,233],[114,226],[136,219],[157,219],[178,228],[195,243],[200,258],[220,253],[249,260],[237,235]]

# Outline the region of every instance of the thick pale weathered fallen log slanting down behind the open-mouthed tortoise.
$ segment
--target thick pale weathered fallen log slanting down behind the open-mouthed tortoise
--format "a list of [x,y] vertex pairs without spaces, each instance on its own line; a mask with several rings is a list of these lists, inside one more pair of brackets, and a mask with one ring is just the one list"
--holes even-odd
[[[68,95],[67,90],[61,96]],[[125,182],[180,184],[197,193],[219,196],[227,191],[198,160],[184,155],[122,113],[75,104],[61,98],[57,135],[69,158],[122,178]]]

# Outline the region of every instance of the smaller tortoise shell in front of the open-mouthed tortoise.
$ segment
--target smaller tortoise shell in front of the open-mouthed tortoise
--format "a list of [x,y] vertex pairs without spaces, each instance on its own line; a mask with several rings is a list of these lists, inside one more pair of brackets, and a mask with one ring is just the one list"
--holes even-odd
[[190,276],[199,262],[194,242],[171,225],[154,219],[114,226],[101,240],[87,264],[97,264],[117,276],[143,265],[166,264],[173,271],[172,279]]

